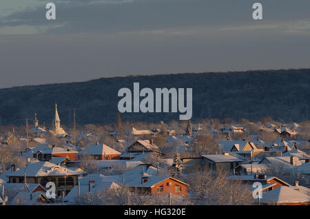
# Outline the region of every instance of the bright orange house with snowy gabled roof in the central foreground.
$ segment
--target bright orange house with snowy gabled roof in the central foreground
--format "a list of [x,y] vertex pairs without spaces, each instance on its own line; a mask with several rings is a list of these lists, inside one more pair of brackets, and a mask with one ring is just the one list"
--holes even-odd
[[148,195],[165,195],[170,193],[186,197],[187,187],[189,187],[187,183],[167,176],[142,176],[130,181],[127,183],[127,186]]

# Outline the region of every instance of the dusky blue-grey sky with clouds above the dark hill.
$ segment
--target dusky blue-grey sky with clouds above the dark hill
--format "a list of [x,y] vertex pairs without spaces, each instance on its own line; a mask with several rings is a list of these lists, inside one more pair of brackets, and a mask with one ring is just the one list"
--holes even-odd
[[[45,19],[48,2],[56,20]],[[309,68],[309,9],[309,0],[1,0],[0,88]]]

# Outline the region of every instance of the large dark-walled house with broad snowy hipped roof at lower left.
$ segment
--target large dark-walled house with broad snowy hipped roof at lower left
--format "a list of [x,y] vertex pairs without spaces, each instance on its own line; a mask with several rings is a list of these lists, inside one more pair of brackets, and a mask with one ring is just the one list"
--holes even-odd
[[33,160],[27,167],[7,174],[9,183],[39,183],[45,187],[46,183],[53,182],[56,185],[57,196],[68,192],[77,185],[79,173],[71,169],[54,165],[49,162]]

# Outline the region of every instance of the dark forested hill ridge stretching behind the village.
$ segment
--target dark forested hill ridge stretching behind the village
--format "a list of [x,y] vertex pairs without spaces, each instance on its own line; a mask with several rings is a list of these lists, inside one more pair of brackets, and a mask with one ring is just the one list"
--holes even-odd
[[[211,116],[258,121],[270,116],[282,121],[304,121],[306,109],[310,112],[310,69],[266,70],[127,76],[1,89],[0,122],[19,125],[26,116],[31,119],[37,112],[39,123],[50,125],[56,101],[63,125],[72,123],[70,109],[74,107],[79,124],[114,123],[120,100],[118,90],[133,90],[134,82],[140,83],[140,89],[150,87],[154,91],[156,87],[192,87],[194,120]],[[178,115],[131,113],[122,114],[122,120],[170,121],[178,120]]]

